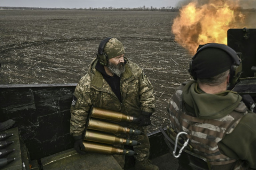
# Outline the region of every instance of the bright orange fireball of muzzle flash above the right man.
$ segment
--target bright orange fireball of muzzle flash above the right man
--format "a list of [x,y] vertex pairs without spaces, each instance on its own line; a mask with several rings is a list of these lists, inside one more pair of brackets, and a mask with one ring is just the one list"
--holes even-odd
[[209,0],[200,5],[198,0],[180,9],[174,19],[172,32],[175,41],[195,53],[199,44],[227,44],[229,28],[243,28],[245,15],[239,10],[239,0]]

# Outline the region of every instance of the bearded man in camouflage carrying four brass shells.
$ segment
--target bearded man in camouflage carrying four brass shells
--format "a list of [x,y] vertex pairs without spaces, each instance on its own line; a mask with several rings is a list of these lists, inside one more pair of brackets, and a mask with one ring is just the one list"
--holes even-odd
[[[91,105],[108,110],[119,111],[138,117],[139,122],[120,122],[122,126],[143,131],[144,135],[126,136],[141,143],[134,146],[135,169],[155,170],[149,158],[149,139],[145,126],[151,124],[150,116],[154,112],[153,86],[142,69],[125,58],[123,44],[116,38],[104,39],[98,49],[97,58],[91,62],[88,73],[83,76],[75,88],[71,106],[70,133],[78,153],[83,148],[82,134]],[[124,159],[114,155],[121,167]],[[122,156],[123,158],[123,156]]]

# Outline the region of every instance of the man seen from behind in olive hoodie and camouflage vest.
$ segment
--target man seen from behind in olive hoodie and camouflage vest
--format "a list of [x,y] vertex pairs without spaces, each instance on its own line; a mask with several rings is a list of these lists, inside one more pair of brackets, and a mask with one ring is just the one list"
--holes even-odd
[[[190,63],[194,80],[176,88],[169,103],[170,127],[188,134],[193,152],[207,158],[211,169],[256,169],[256,114],[227,90],[241,67],[229,46],[203,45]],[[179,169],[191,167],[179,159]]]

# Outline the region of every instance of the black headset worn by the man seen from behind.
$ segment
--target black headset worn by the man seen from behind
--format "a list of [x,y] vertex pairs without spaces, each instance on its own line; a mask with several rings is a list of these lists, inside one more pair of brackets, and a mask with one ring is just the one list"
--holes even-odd
[[237,81],[238,81],[238,79],[241,75],[241,72],[242,72],[241,59],[239,58],[238,53],[235,52],[232,48],[230,48],[227,45],[218,44],[218,43],[208,43],[208,44],[205,44],[205,45],[199,45],[199,48],[197,49],[197,53],[195,53],[195,55],[192,58],[192,61],[189,64],[189,73],[193,77],[193,79],[197,80],[197,74],[192,69],[193,60],[195,59],[195,57],[197,56],[197,54],[200,51],[202,51],[206,48],[218,48],[218,49],[221,49],[221,50],[225,51],[226,53],[228,53],[230,55],[230,57],[232,58],[232,60],[234,62],[231,65],[231,68],[230,68],[229,83],[232,84],[232,85],[237,83]]

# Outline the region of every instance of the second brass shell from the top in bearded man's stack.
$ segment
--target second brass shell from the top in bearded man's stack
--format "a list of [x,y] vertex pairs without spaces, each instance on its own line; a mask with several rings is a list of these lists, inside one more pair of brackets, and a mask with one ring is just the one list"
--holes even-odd
[[134,134],[134,135],[142,135],[144,134],[142,131],[128,128],[128,127],[122,127],[121,125],[114,124],[111,122],[105,122],[97,119],[90,118],[87,123],[87,129],[93,129],[93,130],[99,130],[99,131],[105,131],[110,133],[123,133],[123,134]]

